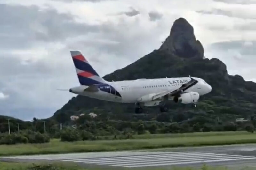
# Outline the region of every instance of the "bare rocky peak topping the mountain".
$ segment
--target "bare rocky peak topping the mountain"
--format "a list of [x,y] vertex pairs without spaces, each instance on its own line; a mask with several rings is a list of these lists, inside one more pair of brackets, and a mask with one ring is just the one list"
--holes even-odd
[[204,48],[201,42],[196,40],[193,26],[184,18],[175,20],[170,35],[165,39],[159,50],[183,58],[204,57]]

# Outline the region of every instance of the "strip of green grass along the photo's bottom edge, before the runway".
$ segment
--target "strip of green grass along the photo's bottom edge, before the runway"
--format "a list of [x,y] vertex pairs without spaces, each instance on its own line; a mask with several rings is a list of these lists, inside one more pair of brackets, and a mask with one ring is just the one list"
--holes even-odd
[[[70,163],[53,163],[53,164],[45,164],[45,163],[10,163],[10,162],[0,162],[0,170],[110,170],[112,168],[104,167],[104,168],[83,168],[77,166],[75,164]],[[125,169],[125,168],[122,168]],[[161,167],[147,167],[140,168],[141,170],[164,170],[166,168]],[[203,165],[201,168],[190,168],[190,167],[171,167],[170,170],[231,170],[232,168],[227,168],[225,166],[220,167],[211,167],[207,165]],[[233,170],[233,169],[232,169]],[[254,170],[253,167],[245,166],[241,168],[236,168],[236,170]]]

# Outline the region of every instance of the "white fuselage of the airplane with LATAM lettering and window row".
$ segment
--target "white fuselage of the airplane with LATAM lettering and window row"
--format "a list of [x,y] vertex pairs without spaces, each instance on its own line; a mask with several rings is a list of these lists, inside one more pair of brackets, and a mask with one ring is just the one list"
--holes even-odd
[[[212,87],[207,84],[201,78],[194,78],[198,81],[196,85],[185,90],[185,92],[197,92],[200,96],[211,92]],[[107,85],[110,85],[114,88],[114,91],[117,91],[119,95],[116,95],[117,92],[105,92],[99,90],[97,92],[88,92],[84,91],[86,86],[79,86],[72,88],[72,92],[88,96],[95,99],[107,100],[113,102],[122,102],[122,103],[136,103],[138,99],[144,95],[159,93],[164,91],[174,91],[181,87],[182,84],[185,84],[190,81],[189,77],[181,78],[158,78],[158,79],[137,79],[137,80],[125,80],[125,81],[116,81],[116,82],[107,82]],[[104,87],[108,88],[108,87]],[[105,89],[106,90],[106,89]],[[111,88],[109,87],[109,90]]]

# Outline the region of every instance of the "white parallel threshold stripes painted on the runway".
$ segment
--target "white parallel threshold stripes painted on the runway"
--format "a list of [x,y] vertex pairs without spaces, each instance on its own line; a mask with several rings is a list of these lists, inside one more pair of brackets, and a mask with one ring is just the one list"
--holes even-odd
[[223,162],[250,159],[256,159],[256,157],[200,152],[162,152],[158,154],[154,154],[154,152],[151,152],[151,154],[146,155],[66,159],[62,161],[132,168],[165,165],[186,165],[196,163],[198,164],[207,162]]

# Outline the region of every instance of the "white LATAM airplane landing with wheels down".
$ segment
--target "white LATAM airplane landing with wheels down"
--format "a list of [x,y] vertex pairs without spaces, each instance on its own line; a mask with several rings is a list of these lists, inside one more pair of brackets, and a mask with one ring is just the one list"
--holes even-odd
[[120,103],[135,103],[135,113],[143,113],[143,106],[159,106],[160,112],[167,112],[167,101],[193,104],[199,97],[211,92],[212,87],[202,78],[179,77],[106,81],[92,68],[80,51],[70,51],[80,86],[69,92]]

